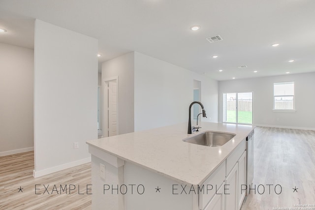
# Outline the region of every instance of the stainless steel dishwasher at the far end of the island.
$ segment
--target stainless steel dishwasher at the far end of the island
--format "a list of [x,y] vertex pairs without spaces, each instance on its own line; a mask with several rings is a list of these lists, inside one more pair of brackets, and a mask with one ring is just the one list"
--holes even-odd
[[246,137],[246,156],[246,195],[248,195],[254,178],[254,131]]

